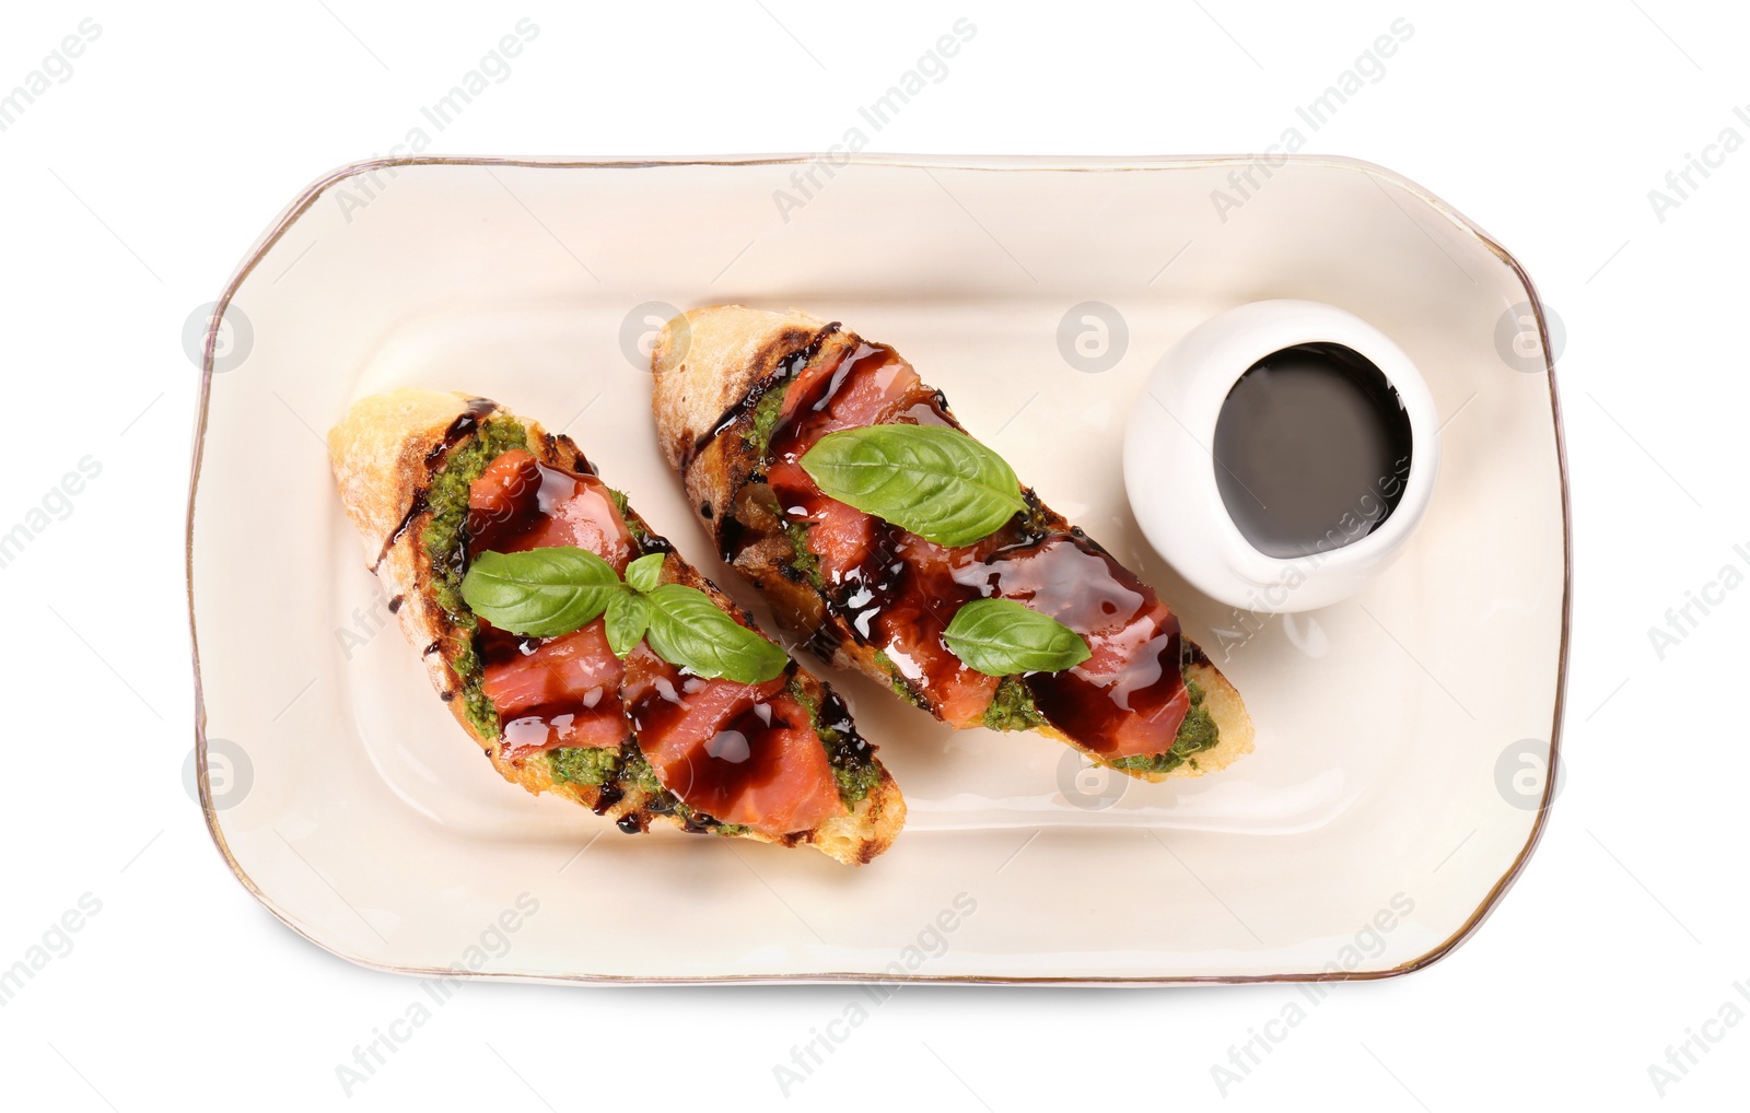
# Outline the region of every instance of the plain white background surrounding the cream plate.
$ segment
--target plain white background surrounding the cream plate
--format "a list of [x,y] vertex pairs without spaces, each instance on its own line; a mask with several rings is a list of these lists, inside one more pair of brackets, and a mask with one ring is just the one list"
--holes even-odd
[[[306,182],[387,154],[523,16],[539,37],[441,135],[455,154],[824,149],[966,16],[976,37],[872,149],[1258,150],[1393,19],[1414,37],[1307,150],[1382,163],[1526,264],[1559,352],[1575,523],[1566,784],[1489,922],[1396,980],[1332,987],[1237,1083],[1211,1066],[1293,987],[901,990],[798,1108],[1741,1108],[1750,592],[1656,653],[1666,609],[1750,569],[1743,299],[1750,150],[1661,220],[1650,189],[1726,128],[1750,142],[1745,12],[1606,0],[1379,4],[794,0],[9,5],[0,89],[102,33],[0,131],[0,530],[84,455],[102,474],[0,569],[12,714],[0,968],[102,903],[0,1006],[0,1104],[150,1110],[772,1108],[774,1066],[850,987],[471,984],[348,1097],[336,1064],[420,987],[299,940],[229,875],[189,800],[182,530],[196,369],[180,343]],[[1582,12],[1575,14],[1575,12]],[[1715,161],[1720,161],[1715,158]],[[1676,196],[1675,192],[1671,194]],[[271,467],[271,462],[264,462]],[[52,508],[51,508],[52,509]],[[1479,539],[1486,544],[1486,539]],[[1698,612],[1699,614],[1699,612]],[[1514,668],[1512,646],[1500,667]],[[1358,690],[1365,698],[1365,686]],[[89,901],[88,901],[89,903]],[[1704,1029],[1704,1022],[1715,1024]],[[1281,1031],[1281,1029],[1278,1029]],[[1661,1097],[1650,1064],[1720,1036]],[[486,1043],[492,1043],[488,1050]]]

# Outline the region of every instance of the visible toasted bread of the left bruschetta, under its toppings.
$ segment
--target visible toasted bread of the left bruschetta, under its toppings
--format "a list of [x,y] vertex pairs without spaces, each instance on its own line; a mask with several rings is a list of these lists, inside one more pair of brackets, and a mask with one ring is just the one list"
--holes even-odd
[[[476,471],[483,460],[490,462],[486,457],[495,458],[516,448],[534,455],[544,467],[579,478],[595,476],[595,469],[570,438],[548,434],[539,424],[508,415],[488,399],[432,390],[394,390],[360,401],[329,434],[329,453],[346,516],[359,528],[369,567],[383,581],[390,609],[399,618],[408,642],[420,651],[432,688],[506,780],[530,793],[555,793],[574,800],[614,819],[628,833],[644,831],[653,822],[667,822],[695,833],[812,845],[847,864],[866,863],[892,844],[905,822],[905,800],[898,786],[873,758],[873,747],[856,738],[849,718],[838,718],[836,709],[842,704],[831,690],[794,663],[788,674],[786,691],[794,693],[794,700],[808,709],[808,730],[826,747],[835,779],[845,763],[856,768],[856,777],[836,780],[842,793],[840,814],[819,821],[812,830],[761,833],[746,824],[721,822],[688,807],[658,780],[651,765],[637,752],[639,735],[630,721],[625,724],[621,746],[592,747],[595,752],[590,758],[598,758],[602,766],[595,774],[600,777],[598,784],[576,775],[567,777],[555,763],[556,754],[578,751],[509,752],[511,747],[499,730],[497,710],[483,690],[476,620],[450,590],[462,572],[453,562],[467,560],[466,485],[460,488],[464,525],[457,527],[453,508],[450,513],[450,528],[462,532],[458,548],[452,550],[450,567],[441,567],[434,560],[432,530],[439,514],[432,500],[441,499],[446,469],[452,464],[460,469],[462,453],[476,443],[478,448],[471,453]],[[450,480],[453,504],[455,485],[467,476],[453,474]],[[439,494],[434,494],[434,488]],[[752,626],[746,612],[674,553],[672,546],[618,495],[616,509],[634,539],[630,556],[665,553],[665,583],[696,588],[737,621]],[[618,709],[620,695],[614,693],[612,698]],[[835,709],[830,724],[822,724],[817,714],[822,707]]]

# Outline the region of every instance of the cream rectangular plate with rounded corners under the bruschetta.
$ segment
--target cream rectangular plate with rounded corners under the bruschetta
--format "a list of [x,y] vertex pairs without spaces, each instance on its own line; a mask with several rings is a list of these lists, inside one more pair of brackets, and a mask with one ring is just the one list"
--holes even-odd
[[[238,878],[317,943],[404,971],[1185,982],[1444,954],[1530,852],[1559,723],[1568,553],[1542,315],[1502,248],[1390,172],[1256,166],[438,159],[313,186],[228,289],[196,455],[201,794]],[[1447,422],[1404,558],[1288,620],[1176,579],[1120,480],[1155,360],[1258,298],[1379,326]],[[833,676],[910,802],[861,870],[632,838],[499,780],[390,625],[322,434],[396,385],[495,397],[570,432],[752,604],[658,457],[637,354],[667,306],[719,301],[898,346],[1174,604],[1246,696],[1256,752],[1204,780],[1108,780],[1054,742],[952,733]]]

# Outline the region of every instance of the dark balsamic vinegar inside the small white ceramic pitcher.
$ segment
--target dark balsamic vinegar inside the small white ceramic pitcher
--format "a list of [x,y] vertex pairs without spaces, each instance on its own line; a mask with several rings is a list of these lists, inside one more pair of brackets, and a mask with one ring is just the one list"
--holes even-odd
[[1367,357],[1304,343],[1253,364],[1214,427],[1214,480],[1241,536],[1298,558],[1372,534],[1404,497],[1410,418]]

